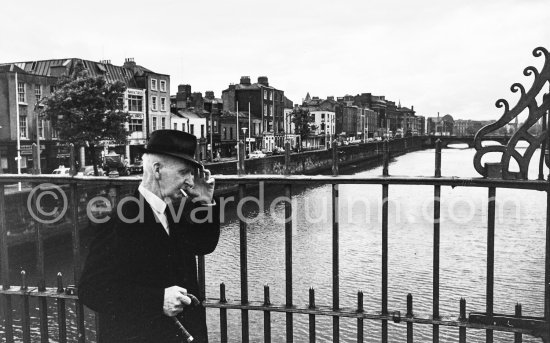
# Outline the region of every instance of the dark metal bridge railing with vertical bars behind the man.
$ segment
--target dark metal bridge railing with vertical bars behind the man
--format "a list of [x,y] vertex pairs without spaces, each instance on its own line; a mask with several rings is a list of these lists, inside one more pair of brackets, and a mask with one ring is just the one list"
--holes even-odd
[[[336,151],[335,147],[335,151]],[[284,196],[292,199],[292,190],[296,185],[327,184],[331,185],[332,197],[332,305],[319,305],[315,301],[315,290],[309,289],[309,303],[300,306],[293,299],[293,236],[292,219],[287,219],[285,225],[285,302],[276,304],[271,302],[270,288],[264,287],[264,299],[249,298],[248,281],[248,239],[247,223],[242,219],[239,223],[240,230],[240,299],[228,300],[225,294],[225,285],[220,285],[219,298],[206,298],[204,306],[210,309],[219,309],[220,313],[220,337],[221,342],[229,340],[228,332],[228,310],[240,310],[241,312],[241,333],[242,342],[250,341],[250,311],[260,311],[264,315],[263,337],[265,342],[271,342],[271,314],[274,312],[285,313],[286,315],[286,342],[294,341],[294,316],[309,316],[309,341],[316,341],[316,317],[329,316],[333,321],[332,341],[340,340],[340,318],[355,318],[357,320],[357,342],[364,342],[365,321],[379,321],[381,325],[381,341],[388,342],[388,323],[402,323],[407,332],[407,342],[413,342],[413,333],[415,325],[431,325],[433,328],[433,342],[439,342],[439,328],[441,326],[455,327],[459,331],[459,341],[466,342],[466,329],[486,330],[486,342],[493,341],[494,331],[515,333],[515,342],[522,341],[522,335],[532,335],[541,337],[545,342],[549,341],[550,331],[550,289],[549,289],[549,269],[550,269],[550,230],[547,213],[546,218],[546,242],[545,242],[545,293],[544,293],[544,316],[543,317],[525,317],[521,315],[521,306],[516,307],[514,314],[496,314],[494,308],[494,271],[495,271],[495,199],[497,188],[525,189],[534,191],[543,191],[549,194],[548,181],[516,181],[488,178],[457,178],[441,176],[441,149],[436,149],[436,163],[433,177],[394,177],[389,176],[388,160],[389,155],[385,149],[385,158],[383,166],[383,175],[379,177],[358,177],[358,176],[284,176],[284,175],[240,175],[240,176],[216,176],[218,184],[231,184],[238,186],[238,196],[245,197],[247,185],[257,185],[260,182],[268,184],[281,185],[284,189]],[[333,175],[338,175],[338,166],[333,168]],[[137,185],[135,178],[107,178],[107,177],[52,177],[45,175],[1,175],[0,176],[0,260],[1,260],[1,281],[2,290],[0,298],[2,300],[4,341],[11,343],[14,341],[31,342],[31,330],[36,331],[31,323],[30,300],[36,299],[38,302],[38,330],[40,332],[41,342],[48,342],[52,337],[52,330],[48,327],[48,316],[54,314],[48,313],[48,300],[56,302],[57,337],[59,342],[67,342],[67,316],[68,306],[74,306],[77,337],[79,342],[86,341],[86,327],[93,323],[85,323],[84,308],[75,295],[73,287],[64,287],[61,275],[57,276],[57,285],[46,287],[46,277],[44,272],[44,224],[35,222],[36,228],[36,270],[38,273],[38,284],[29,286],[26,281],[27,275],[22,273],[22,280],[19,285],[10,280],[10,264],[8,254],[8,227],[6,225],[6,203],[5,203],[5,185],[15,182],[27,182],[33,184],[52,183],[67,185],[69,193],[70,208],[66,213],[68,223],[71,226],[72,235],[72,260],[73,260],[73,282],[78,284],[81,271],[81,251],[80,251],[80,227],[79,227],[79,189],[90,184],[102,184],[105,187],[120,189],[124,186]],[[364,295],[357,293],[357,306],[354,308],[342,307],[340,305],[340,227],[338,218],[339,209],[339,187],[344,184],[358,185],[380,185],[382,187],[382,240],[381,240],[381,307],[378,310],[366,310],[363,305]],[[433,201],[433,263],[432,266],[424,267],[432,269],[433,272],[433,304],[432,312],[428,314],[417,313],[413,309],[413,296],[407,296],[406,309],[390,309],[388,307],[388,231],[389,228],[389,210],[388,195],[390,187],[394,185],[422,185],[434,187]],[[439,288],[440,288],[440,196],[441,187],[481,187],[488,190],[488,223],[487,223],[487,274],[486,274],[486,305],[484,312],[471,312],[466,314],[466,300],[461,299],[458,309],[458,316],[445,315],[440,313]],[[113,199],[116,201],[116,199]],[[292,218],[292,202],[285,202],[285,218]],[[549,210],[550,211],[550,210]],[[205,289],[205,260],[199,257],[199,283],[204,295]],[[20,325],[17,326],[18,332],[14,330],[14,306],[13,299],[17,298],[21,304]],[[34,300],[33,300],[34,301]],[[19,330],[20,327],[20,330]],[[53,338],[53,337],[52,337]],[[216,337],[217,341],[218,338]]]

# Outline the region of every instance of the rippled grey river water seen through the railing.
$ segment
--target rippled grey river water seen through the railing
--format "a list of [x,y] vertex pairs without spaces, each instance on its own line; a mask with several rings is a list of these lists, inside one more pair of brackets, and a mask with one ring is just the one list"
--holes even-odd
[[[445,149],[443,176],[477,177],[472,165],[473,150]],[[537,161],[535,156],[533,161]],[[533,163],[530,178],[536,178]],[[434,150],[397,157],[391,175],[432,176]],[[381,175],[381,167],[347,170],[362,176]],[[546,171],[548,173],[548,171]],[[265,185],[250,191],[262,199],[264,208],[252,201],[245,206],[248,225],[249,299],[263,301],[264,285],[270,286],[271,302],[285,303],[284,204],[274,201],[282,187]],[[485,310],[487,189],[442,187],[440,313],[458,317],[459,300],[467,300],[467,312]],[[326,185],[295,186],[297,203],[293,220],[293,298],[307,306],[308,290],[315,289],[317,305],[332,305],[332,218],[331,188]],[[389,188],[389,279],[388,308],[406,313],[406,296],[414,296],[414,311],[432,309],[433,186],[390,186]],[[379,185],[340,186],[340,305],[355,307],[357,292],[364,292],[367,311],[381,308],[381,201]],[[271,209],[270,209],[271,205]],[[523,314],[542,316],[544,310],[544,241],[546,197],[543,192],[497,190],[495,236],[494,311],[513,314],[523,305]],[[230,212],[230,213],[228,213]],[[83,238],[84,245],[88,238]],[[56,243],[57,244],[57,243]],[[66,246],[64,246],[66,245]],[[61,247],[61,248],[60,248]],[[71,274],[70,244],[48,249],[47,274],[53,286],[57,271]],[[33,269],[34,261],[14,259],[13,277],[20,268]],[[240,299],[239,222],[234,211],[226,212],[218,248],[206,257],[207,297],[219,297],[219,284],[226,285],[228,299]],[[55,304],[51,303],[52,307]],[[68,308],[69,318],[74,318]],[[212,342],[220,339],[219,310],[208,309]],[[17,317],[17,316],[16,316]],[[272,340],[285,339],[285,314],[272,313]],[[17,319],[17,318],[16,318]],[[50,332],[55,338],[55,315]],[[90,324],[93,323],[88,315]],[[240,342],[240,310],[229,310],[229,341]],[[263,341],[263,312],[250,311],[250,338]],[[34,327],[38,328],[36,318]],[[355,319],[342,318],[342,342],[356,339]],[[17,322],[16,322],[17,324]],[[317,341],[332,341],[332,318],[317,316]],[[365,341],[380,342],[379,321],[365,321]],[[432,327],[415,325],[415,341],[431,342]],[[69,329],[74,337],[74,325]],[[38,332],[33,333],[34,336]],[[93,339],[93,327],[87,332]],[[406,340],[404,323],[389,323],[391,342]],[[36,336],[37,337],[37,336]],[[308,341],[308,316],[294,315],[296,342]],[[440,327],[441,342],[458,342],[458,329]],[[484,342],[485,331],[468,330],[468,341]],[[538,340],[525,337],[525,342]],[[495,333],[495,342],[513,342],[513,334]]]

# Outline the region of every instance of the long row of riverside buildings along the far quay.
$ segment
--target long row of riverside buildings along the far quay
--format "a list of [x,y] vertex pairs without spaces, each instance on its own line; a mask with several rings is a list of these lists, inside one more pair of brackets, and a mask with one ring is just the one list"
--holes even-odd
[[[176,129],[199,139],[198,158],[209,160],[236,154],[237,142],[247,151],[273,151],[290,142],[293,149],[329,148],[340,141],[367,140],[374,137],[424,134],[424,117],[410,109],[371,93],[320,99],[309,94],[301,104],[293,104],[284,91],[270,85],[265,76],[252,82],[248,76],[229,84],[217,98],[213,91],[193,92],[191,85],[181,84],[170,95],[170,75],[152,71],[127,58],[122,66],[109,60],[99,62],[79,58],[27,61],[0,64],[0,167],[3,172],[17,172],[18,151],[22,172],[36,166],[31,146],[40,142],[40,165],[50,172],[68,163],[68,147],[59,140],[55,127],[42,116],[40,99],[55,91],[60,77],[72,76],[85,69],[89,76],[103,76],[107,81],[122,81],[128,143],[106,144],[106,154],[115,151],[130,162],[140,158],[149,134],[158,129]],[[314,130],[301,139],[292,123],[293,111],[308,110],[314,118]],[[19,146],[18,146],[19,144]],[[80,151],[80,164],[85,160]]]

